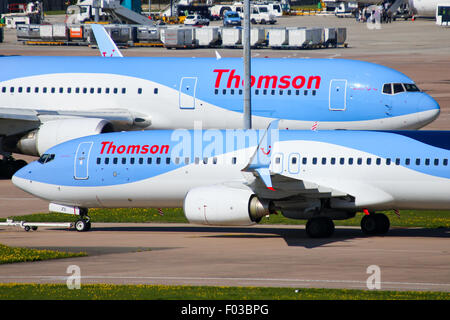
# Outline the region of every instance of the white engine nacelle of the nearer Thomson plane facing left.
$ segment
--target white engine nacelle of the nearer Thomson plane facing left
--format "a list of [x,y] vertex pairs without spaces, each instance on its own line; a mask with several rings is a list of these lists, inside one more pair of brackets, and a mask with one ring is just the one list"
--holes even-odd
[[251,225],[274,213],[272,203],[259,200],[250,189],[227,186],[194,188],[183,208],[191,223],[220,226]]

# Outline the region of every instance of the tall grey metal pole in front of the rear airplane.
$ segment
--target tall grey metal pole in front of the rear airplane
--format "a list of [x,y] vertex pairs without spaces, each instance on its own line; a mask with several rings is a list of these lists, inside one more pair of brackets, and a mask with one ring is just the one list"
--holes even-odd
[[252,128],[250,0],[244,0],[244,129]]

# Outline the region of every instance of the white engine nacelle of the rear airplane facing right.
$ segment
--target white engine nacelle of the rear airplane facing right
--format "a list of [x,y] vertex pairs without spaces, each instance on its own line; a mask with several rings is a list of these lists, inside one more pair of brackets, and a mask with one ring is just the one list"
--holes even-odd
[[40,156],[47,149],[72,139],[112,132],[113,126],[104,119],[77,118],[47,121],[20,138],[16,149],[31,156]]

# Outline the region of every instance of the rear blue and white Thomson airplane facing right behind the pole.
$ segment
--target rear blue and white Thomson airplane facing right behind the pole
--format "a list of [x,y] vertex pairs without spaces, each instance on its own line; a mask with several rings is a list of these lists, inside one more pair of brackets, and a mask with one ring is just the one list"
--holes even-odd
[[[1,57],[0,153],[142,129],[241,128],[239,58]],[[416,129],[437,102],[393,69],[337,59],[253,59],[252,124]]]

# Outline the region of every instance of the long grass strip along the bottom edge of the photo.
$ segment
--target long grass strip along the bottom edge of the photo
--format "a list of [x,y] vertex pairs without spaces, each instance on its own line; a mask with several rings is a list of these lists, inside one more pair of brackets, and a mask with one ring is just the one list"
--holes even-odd
[[264,287],[0,284],[0,300],[449,300],[447,292]]

